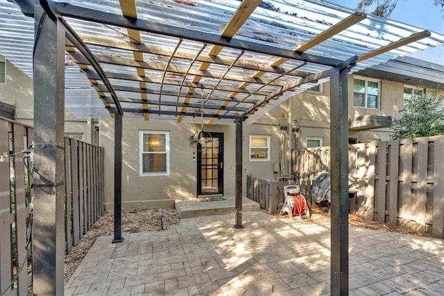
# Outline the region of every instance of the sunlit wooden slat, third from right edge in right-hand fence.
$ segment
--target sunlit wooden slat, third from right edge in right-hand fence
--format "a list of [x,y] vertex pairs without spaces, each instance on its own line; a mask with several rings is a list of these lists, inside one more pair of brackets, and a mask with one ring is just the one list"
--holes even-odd
[[401,226],[407,227],[411,219],[411,172],[413,163],[413,139],[404,139],[400,142],[400,218]]

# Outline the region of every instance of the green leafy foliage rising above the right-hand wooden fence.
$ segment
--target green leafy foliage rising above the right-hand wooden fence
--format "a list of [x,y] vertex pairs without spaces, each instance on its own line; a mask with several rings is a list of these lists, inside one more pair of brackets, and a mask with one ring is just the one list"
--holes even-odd
[[401,118],[393,122],[393,139],[444,135],[444,95],[434,90],[430,97],[425,94],[405,100]]

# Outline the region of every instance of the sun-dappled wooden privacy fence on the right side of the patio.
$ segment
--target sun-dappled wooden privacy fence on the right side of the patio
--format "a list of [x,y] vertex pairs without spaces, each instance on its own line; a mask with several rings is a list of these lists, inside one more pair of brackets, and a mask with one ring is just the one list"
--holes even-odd
[[[293,172],[311,203],[311,183],[330,171],[330,147],[293,151]],[[349,174],[362,197],[350,213],[444,238],[444,135],[349,145]]]

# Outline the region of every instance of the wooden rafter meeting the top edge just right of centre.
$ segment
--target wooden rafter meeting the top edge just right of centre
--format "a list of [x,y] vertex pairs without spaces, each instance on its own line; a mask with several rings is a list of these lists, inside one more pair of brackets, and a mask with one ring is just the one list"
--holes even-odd
[[[257,6],[259,6],[259,3],[261,3],[261,0],[244,0],[241,2],[239,7],[237,8],[236,12],[228,22],[228,24],[223,28],[223,31],[221,33],[221,36],[226,38],[232,38],[234,34],[239,31],[239,28],[246,22],[248,17],[255,11]],[[221,52],[223,47],[219,45],[213,45],[210,49],[208,56],[217,56],[219,52]],[[210,63],[201,63],[199,66],[200,71],[206,71],[210,67]],[[196,75],[194,77],[193,83],[198,83],[202,79],[202,76]],[[189,88],[188,93],[192,94],[194,92],[195,88]],[[185,98],[185,103],[188,103],[189,99]],[[182,108],[181,112],[185,112],[186,108]],[[182,122],[182,116],[178,117],[178,122]]]

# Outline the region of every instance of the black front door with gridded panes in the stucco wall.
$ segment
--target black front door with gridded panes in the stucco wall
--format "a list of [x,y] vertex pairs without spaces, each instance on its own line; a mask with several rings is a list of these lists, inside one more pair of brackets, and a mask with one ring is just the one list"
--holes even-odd
[[198,197],[223,195],[223,133],[210,135],[197,145]]

